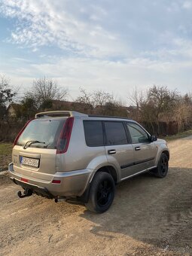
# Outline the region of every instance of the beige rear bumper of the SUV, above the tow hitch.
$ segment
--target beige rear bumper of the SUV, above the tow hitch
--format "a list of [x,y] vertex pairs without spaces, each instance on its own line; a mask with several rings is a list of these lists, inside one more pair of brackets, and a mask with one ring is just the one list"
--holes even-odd
[[[36,194],[41,194],[48,198],[56,197],[81,197],[88,187],[93,175],[92,169],[82,169],[71,172],[56,172],[50,181],[46,179],[35,178],[35,175],[27,176],[15,172],[14,164],[8,166],[9,176],[15,184],[21,187],[29,188]],[[26,179],[27,182],[21,179]],[[59,180],[59,184],[52,183],[53,180]]]

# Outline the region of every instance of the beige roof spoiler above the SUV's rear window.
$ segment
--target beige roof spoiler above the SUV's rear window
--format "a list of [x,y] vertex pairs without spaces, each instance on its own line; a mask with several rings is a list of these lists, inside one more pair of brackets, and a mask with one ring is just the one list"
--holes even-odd
[[35,118],[39,117],[88,117],[87,114],[82,114],[76,111],[44,111],[38,114],[35,114]]

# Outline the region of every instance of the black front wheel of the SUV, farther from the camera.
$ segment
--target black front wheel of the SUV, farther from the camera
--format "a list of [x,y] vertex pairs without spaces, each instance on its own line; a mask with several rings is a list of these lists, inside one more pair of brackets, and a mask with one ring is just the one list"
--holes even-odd
[[158,166],[152,172],[158,178],[164,178],[169,169],[169,159],[165,153],[161,154]]

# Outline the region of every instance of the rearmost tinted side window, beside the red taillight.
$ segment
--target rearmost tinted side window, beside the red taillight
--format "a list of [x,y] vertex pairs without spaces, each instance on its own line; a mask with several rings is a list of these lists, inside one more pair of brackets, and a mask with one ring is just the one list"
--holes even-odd
[[84,135],[87,146],[103,146],[102,121],[84,120]]

